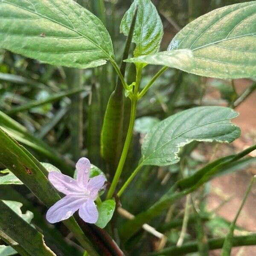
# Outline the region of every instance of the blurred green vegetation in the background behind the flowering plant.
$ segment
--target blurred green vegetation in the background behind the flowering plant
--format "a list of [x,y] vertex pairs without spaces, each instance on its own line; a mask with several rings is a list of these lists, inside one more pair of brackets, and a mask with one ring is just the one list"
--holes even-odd
[[[91,10],[105,24],[111,34],[116,57],[121,61],[125,37],[119,34],[119,24],[131,1],[77,0],[77,2]],[[165,33],[161,49],[166,50],[173,36],[190,21],[213,9],[245,1],[155,0],[152,2],[163,21]],[[142,88],[158,70],[158,66],[149,66],[143,70]],[[129,81],[134,81],[136,70],[133,64],[128,67],[126,75],[128,84]],[[40,162],[51,163],[67,175],[73,175],[75,162],[80,157],[86,156],[91,163],[104,170],[111,180],[116,169],[116,158],[119,156],[115,156],[111,163],[107,163],[101,157],[100,134],[108,99],[115,84],[116,75],[111,64],[87,70],[55,67],[1,49],[0,127],[8,131]],[[157,120],[194,106],[226,105],[236,108],[256,88],[252,79],[247,89],[238,94],[233,84],[234,81],[207,79],[180,70],[167,70],[150,88],[145,99],[138,104],[134,137],[125,162],[123,180],[136,168],[136,163],[140,160],[141,141]],[[205,98],[205,93],[209,91],[218,91],[221,99]],[[122,143],[130,115],[129,102],[127,99],[124,101]],[[144,118],[145,116],[148,118]],[[229,150],[231,154],[232,149]],[[216,154],[217,151],[216,145],[191,143],[181,152],[180,163],[167,167],[143,167],[140,175],[134,179],[122,198],[122,209],[133,215],[148,209],[180,177],[188,177],[208,161],[214,160],[214,156],[211,158],[209,155],[213,152]],[[255,157],[243,158],[228,166],[225,175],[247,168],[252,163],[255,163]],[[0,169],[1,167],[4,169],[3,166],[0,166]],[[169,210],[154,218],[149,224],[156,227],[158,233],[153,231],[152,234],[140,230],[125,244],[119,245],[129,252],[128,255],[142,255],[152,250],[160,250],[163,245],[169,247],[166,253],[173,253],[172,255],[189,253],[195,250],[193,248],[195,248],[194,244],[197,244],[197,239],[201,239],[202,248],[205,245],[204,239],[209,239],[210,248],[221,247],[218,239],[224,241],[230,223],[214,212],[207,211],[208,192],[209,186],[205,184],[192,196],[177,201]],[[60,237],[59,233],[64,235],[67,246],[61,245],[61,238],[57,246],[52,243],[52,235],[47,233],[48,224],[38,213],[45,213],[47,208],[25,186],[1,186],[0,198],[20,201],[23,203],[23,212],[32,211],[34,213],[32,224],[44,230],[45,240],[56,254],[61,255],[58,246],[65,247],[66,255],[69,252],[72,252],[69,255],[75,255],[75,251],[79,252],[80,247],[74,243],[76,240],[61,223],[56,226],[55,236]],[[117,242],[120,239],[112,227],[115,225],[122,227],[127,217],[130,218],[125,211],[116,212],[112,224],[108,225],[108,233]],[[241,227],[236,229],[249,234]],[[255,237],[248,236],[248,239],[250,244]],[[191,241],[190,247],[175,247],[177,243],[182,244],[187,241]],[[239,245],[239,241],[234,244]]]

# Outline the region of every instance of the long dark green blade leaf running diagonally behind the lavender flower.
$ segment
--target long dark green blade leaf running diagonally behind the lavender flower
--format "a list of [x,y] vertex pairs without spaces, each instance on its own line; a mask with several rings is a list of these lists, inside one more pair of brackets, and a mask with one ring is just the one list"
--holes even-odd
[[[47,207],[51,207],[61,197],[47,179],[48,172],[32,154],[23,146],[19,145],[12,137],[0,128],[0,163],[8,168],[19,178]],[[63,221],[73,232],[84,249],[90,251],[91,255],[98,255],[92,247],[89,239],[84,235],[74,217]]]

